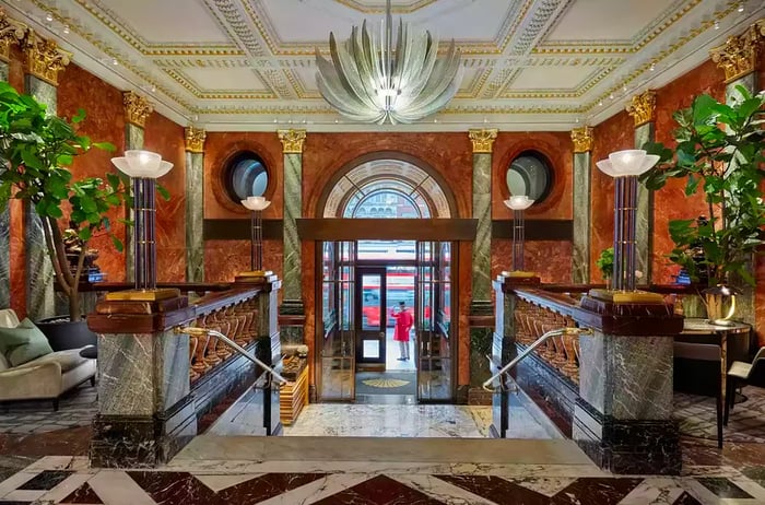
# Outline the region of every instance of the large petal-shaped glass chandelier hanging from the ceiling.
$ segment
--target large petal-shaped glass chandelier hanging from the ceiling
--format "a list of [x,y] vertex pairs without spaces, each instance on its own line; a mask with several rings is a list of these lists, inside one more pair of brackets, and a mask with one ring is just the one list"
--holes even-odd
[[354,121],[414,122],[440,110],[462,80],[460,51],[452,39],[438,57],[438,39],[399,20],[393,40],[390,0],[379,37],[353,26],[351,38],[338,45],[329,34],[331,61],[316,49],[316,82],[321,96]]

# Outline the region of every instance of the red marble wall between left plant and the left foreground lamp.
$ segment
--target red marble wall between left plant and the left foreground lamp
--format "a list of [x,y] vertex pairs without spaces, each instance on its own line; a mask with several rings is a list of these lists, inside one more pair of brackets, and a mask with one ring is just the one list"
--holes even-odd
[[[78,156],[72,164],[75,179],[84,177],[106,178],[108,173],[117,173],[110,158],[122,154],[125,149],[125,114],[122,93],[105,83],[87,71],[71,63],[60,74],[58,86],[58,115],[71,118],[79,109],[86,113],[85,120],[79,124],[78,132],[86,134],[94,142],[111,142],[116,151],[109,152],[92,149]],[[122,208],[114,209],[108,214],[113,233],[121,240],[125,239],[125,219]],[[125,280],[125,255],[113,245],[106,233],[96,235],[90,247],[98,249],[96,263],[107,280],[119,282]]]

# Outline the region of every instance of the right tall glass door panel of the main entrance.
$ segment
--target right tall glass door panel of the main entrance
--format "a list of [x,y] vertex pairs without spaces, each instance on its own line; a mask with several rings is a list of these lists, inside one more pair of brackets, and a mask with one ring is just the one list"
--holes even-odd
[[417,314],[417,400],[452,399],[451,244],[419,242],[415,302]]

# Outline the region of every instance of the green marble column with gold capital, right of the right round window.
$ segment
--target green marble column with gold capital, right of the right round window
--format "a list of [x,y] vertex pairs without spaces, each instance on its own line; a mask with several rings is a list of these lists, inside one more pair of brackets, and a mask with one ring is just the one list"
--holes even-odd
[[574,249],[572,256],[572,282],[590,282],[590,211],[592,190],[592,128],[572,130],[574,141]]

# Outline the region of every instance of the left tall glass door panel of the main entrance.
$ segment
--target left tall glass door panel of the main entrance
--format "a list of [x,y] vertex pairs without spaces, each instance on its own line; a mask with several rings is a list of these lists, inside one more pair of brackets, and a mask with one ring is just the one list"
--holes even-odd
[[322,244],[322,400],[353,400],[355,344],[355,243]]

